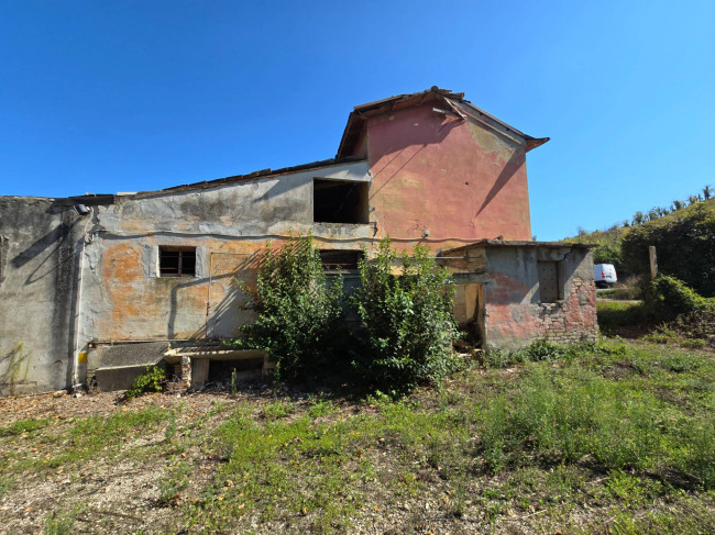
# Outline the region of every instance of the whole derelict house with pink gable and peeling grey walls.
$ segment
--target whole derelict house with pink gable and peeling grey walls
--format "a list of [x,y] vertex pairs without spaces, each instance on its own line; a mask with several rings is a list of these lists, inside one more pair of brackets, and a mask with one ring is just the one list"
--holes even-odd
[[[427,244],[485,347],[596,336],[587,246],[531,241],[526,154],[546,143],[432,88],[355,107],[334,159],[158,191],[0,197],[0,393],[111,389],[151,363],[195,381],[237,355],[266,239],[312,232],[349,270]],[[180,366],[179,366],[180,368]],[[200,379],[197,379],[200,378]]]

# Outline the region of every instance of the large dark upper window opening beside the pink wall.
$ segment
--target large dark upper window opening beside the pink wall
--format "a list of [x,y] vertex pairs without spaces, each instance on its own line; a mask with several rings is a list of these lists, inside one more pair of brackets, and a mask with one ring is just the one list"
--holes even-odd
[[367,223],[367,182],[312,181],[312,220],[316,223]]

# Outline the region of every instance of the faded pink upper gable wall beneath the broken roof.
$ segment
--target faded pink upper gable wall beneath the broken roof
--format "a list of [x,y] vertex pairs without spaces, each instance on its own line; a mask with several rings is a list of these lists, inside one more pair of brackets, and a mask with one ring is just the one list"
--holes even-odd
[[530,239],[524,140],[432,107],[369,119],[377,235],[404,243],[428,233],[433,250],[497,236]]

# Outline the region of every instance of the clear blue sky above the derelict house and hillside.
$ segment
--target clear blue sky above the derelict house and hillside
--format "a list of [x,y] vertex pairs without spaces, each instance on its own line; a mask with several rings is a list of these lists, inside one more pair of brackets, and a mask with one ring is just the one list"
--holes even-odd
[[0,0],[0,194],[151,190],[334,156],[433,85],[551,142],[557,239],[715,185],[715,2]]

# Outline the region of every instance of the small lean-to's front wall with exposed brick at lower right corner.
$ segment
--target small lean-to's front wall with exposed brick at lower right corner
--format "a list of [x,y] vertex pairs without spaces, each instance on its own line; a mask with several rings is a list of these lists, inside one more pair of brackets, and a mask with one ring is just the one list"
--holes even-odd
[[[593,254],[584,248],[490,247],[484,285],[484,331],[490,348],[517,348],[535,339],[595,341]],[[537,261],[562,263],[563,300],[541,303]]]

